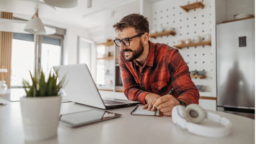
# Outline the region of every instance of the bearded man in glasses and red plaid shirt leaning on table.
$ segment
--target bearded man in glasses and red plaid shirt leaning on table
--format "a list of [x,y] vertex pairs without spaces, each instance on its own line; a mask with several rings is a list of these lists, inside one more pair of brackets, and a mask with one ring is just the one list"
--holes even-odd
[[[171,116],[175,105],[198,104],[199,92],[177,49],[149,41],[149,22],[140,14],[129,14],[113,25],[120,46],[119,66],[124,94],[146,104],[144,109]],[[174,88],[171,94],[168,92]]]

